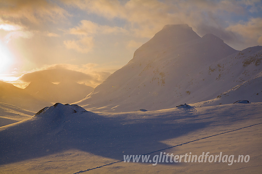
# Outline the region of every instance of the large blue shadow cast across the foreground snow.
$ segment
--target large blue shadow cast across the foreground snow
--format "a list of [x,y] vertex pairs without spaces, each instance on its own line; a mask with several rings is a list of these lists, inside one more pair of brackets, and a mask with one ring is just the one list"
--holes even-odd
[[178,119],[160,116],[127,121],[121,116],[107,118],[89,111],[52,119],[33,117],[0,128],[0,164],[68,149],[123,160],[123,155],[140,155],[167,148],[160,141],[185,135],[208,124],[175,120]]

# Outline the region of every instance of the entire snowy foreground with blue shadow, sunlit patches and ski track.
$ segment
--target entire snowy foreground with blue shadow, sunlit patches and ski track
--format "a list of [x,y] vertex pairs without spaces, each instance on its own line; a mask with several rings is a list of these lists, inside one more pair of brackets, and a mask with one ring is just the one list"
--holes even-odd
[[[46,107],[0,127],[0,173],[261,173],[262,102],[191,106],[125,113]],[[153,162],[203,152],[206,162]],[[151,163],[123,161],[143,154]],[[248,162],[237,162],[239,155]]]

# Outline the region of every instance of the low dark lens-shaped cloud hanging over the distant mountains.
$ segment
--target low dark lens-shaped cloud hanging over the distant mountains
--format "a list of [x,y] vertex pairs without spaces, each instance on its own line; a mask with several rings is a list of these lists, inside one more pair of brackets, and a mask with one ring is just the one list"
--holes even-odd
[[22,80],[26,83],[36,80],[47,80],[52,83],[67,81],[96,87],[102,83],[111,73],[96,70],[94,68],[95,66],[96,64],[54,64],[25,73],[21,75],[19,80]]

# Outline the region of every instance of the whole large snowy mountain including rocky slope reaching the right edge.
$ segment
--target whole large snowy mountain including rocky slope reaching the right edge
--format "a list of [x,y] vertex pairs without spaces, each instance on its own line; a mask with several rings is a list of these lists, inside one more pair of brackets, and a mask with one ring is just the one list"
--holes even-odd
[[128,64],[76,104],[100,112],[168,109],[215,99],[239,85],[241,92],[231,90],[230,99],[209,104],[246,98],[261,102],[261,50],[258,46],[239,52],[213,34],[199,37],[188,25],[166,25]]

